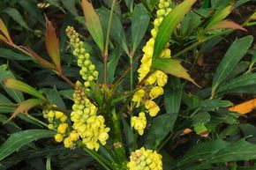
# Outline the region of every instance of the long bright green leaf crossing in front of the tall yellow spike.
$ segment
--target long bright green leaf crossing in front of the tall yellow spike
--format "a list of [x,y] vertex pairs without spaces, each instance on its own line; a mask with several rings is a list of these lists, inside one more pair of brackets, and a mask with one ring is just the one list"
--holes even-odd
[[196,0],[184,0],[184,2],[178,4],[163,18],[154,42],[153,63],[162,53],[162,49],[166,46],[167,42],[169,42],[169,38],[177,28],[178,23],[184,18],[184,15],[190,11],[192,4],[195,2]]

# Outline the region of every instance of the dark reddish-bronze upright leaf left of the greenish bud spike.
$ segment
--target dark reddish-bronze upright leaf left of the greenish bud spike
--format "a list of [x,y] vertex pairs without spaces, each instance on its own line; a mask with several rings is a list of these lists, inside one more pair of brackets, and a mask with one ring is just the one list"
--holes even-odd
[[59,49],[59,40],[56,37],[56,30],[52,26],[51,22],[46,18],[46,33],[45,33],[45,45],[47,52],[53,63],[56,65],[56,70],[61,72],[61,58]]

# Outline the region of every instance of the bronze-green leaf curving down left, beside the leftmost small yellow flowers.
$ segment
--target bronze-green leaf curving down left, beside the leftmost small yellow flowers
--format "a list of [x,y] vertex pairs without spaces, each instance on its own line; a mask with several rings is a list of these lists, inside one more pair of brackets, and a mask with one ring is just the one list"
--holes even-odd
[[9,120],[13,119],[20,113],[27,113],[31,108],[41,105],[43,103],[45,103],[45,101],[39,100],[39,99],[30,99],[30,100],[22,101],[19,103],[19,106],[14,110]]

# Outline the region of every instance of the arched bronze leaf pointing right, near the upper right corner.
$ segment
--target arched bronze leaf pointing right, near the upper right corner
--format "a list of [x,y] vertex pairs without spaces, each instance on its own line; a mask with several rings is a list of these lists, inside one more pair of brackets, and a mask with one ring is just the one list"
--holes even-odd
[[239,30],[247,31],[243,26],[240,26],[231,20],[222,20],[213,26],[209,26],[207,30],[215,30],[215,29],[221,29],[221,28],[231,28],[231,29],[239,29]]

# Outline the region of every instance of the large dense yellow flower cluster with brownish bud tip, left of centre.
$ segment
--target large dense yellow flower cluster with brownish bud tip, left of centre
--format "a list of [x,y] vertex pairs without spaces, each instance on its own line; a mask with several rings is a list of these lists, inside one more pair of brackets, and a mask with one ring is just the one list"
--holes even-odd
[[73,99],[72,127],[78,131],[88,149],[98,151],[100,143],[105,145],[109,138],[109,128],[105,125],[104,117],[96,115],[97,107],[87,99],[85,89],[79,81],[76,83]]

